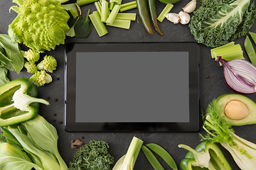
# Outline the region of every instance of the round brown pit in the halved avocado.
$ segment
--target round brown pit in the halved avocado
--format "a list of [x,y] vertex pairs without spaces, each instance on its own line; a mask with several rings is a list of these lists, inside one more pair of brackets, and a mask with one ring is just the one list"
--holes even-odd
[[242,120],[249,115],[249,109],[241,101],[230,101],[225,106],[225,115],[233,120]]

